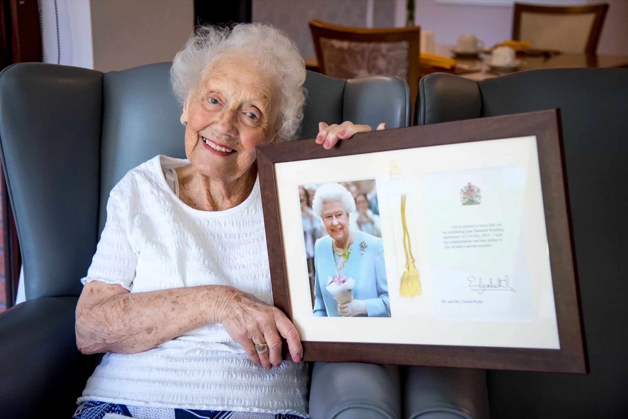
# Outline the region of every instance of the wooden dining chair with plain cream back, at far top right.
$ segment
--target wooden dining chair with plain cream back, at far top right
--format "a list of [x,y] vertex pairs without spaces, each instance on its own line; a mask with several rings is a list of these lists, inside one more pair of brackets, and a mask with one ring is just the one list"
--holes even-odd
[[607,3],[558,7],[514,4],[512,39],[530,41],[535,50],[595,54]]

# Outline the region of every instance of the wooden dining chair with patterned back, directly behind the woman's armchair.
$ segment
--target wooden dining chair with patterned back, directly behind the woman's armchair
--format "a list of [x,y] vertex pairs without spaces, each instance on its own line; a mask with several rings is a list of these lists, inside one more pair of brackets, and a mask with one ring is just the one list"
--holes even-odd
[[313,20],[310,29],[318,72],[337,78],[401,77],[408,82],[414,107],[419,90],[419,26],[366,29]]

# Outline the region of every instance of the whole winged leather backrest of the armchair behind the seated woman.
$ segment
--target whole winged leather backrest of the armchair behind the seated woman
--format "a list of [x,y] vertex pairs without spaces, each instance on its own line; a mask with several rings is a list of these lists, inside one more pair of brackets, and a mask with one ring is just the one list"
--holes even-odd
[[[170,63],[121,72],[19,63],[0,73],[0,157],[18,229],[26,299],[78,295],[109,191],[156,154],[185,157]],[[301,137],[318,122],[410,122],[408,84],[308,72]]]

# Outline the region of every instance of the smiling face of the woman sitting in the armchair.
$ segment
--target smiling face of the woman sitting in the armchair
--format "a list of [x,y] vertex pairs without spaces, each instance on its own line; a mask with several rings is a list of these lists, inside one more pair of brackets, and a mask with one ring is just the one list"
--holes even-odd
[[276,139],[276,89],[251,61],[217,58],[183,106],[185,154],[210,178],[240,178],[255,161],[255,147]]

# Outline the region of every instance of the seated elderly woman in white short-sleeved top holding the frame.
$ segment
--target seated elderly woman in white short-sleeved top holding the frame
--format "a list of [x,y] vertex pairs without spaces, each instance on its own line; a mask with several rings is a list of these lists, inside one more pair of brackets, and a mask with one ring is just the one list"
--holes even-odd
[[[295,138],[304,81],[295,44],[262,24],[201,28],[176,55],[187,160],[156,156],[111,191],[76,311],[80,351],[107,354],[75,417],[308,415],[299,335],[272,305],[255,164],[257,145]],[[368,130],[321,123],[317,142]]]

